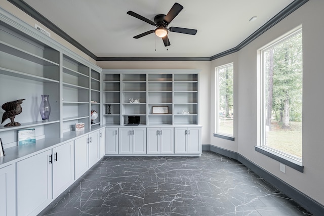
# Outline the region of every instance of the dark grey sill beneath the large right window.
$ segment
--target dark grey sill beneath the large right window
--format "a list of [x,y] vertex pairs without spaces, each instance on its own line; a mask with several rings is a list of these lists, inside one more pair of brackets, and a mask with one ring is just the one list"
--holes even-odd
[[260,152],[261,154],[264,154],[274,160],[279,161],[280,163],[283,163],[289,167],[292,167],[293,169],[296,169],[297,171],[304,172],[304,166],[300,161],[294,160],[290,157],[287,157],[285,155],[281,155],[275,151],[272,151],[268,148],[265,148],[263,146],[255,146],[254,150],[257,152]]

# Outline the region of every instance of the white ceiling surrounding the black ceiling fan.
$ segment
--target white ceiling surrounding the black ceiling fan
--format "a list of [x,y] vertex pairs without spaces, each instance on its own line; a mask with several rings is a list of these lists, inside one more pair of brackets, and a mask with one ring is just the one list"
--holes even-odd
[[[196,35],[169,32],[171,46],[149,34],[150,20],[167,14],[175,0],[24,0],[97,57],[211,57],[236,47],[293,0],[177,0],[184,9],[168,27],[197,29]],[[249,22],[253,17],[258,18]],[[156,49],[156,51],[155,51]]]

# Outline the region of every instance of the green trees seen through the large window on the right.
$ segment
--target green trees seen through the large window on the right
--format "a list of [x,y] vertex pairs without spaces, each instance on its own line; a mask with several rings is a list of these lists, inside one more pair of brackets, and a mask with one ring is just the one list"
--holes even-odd
[[[289,119],[302,117],[302,33],[298,33],[264,52],[265,97],[269,97],[270,50],[273,51],[272,113],[282,121],[285,101],[289,101]],[[267,104],[266,104],[267,107]]]

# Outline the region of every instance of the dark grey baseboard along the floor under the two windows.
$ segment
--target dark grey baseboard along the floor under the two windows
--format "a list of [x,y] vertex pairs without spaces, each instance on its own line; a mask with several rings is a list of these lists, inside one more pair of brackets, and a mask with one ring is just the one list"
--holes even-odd
[[287,196],[292,198],[295,202],[300,204],[302,207],[304,207],[306,210],[311,212],[314,215],[323,215],[324,212],[324,206],[318,203],[317,201],[313,200],[306,194],[300,192],[296,188],[292,187],[291,185],[287,184],[286,182],[282,181],[281,179],[277,178],[276,176],[272,175],[267,170],[260,167],[258,164],[252,162],[248,158],[238,154],[237,152],[229,151],[217,146],[213,145],[203,145],[202,147],[203,151],[212,151],[221,155],[224,155],[226,157],[230,157],[232,159],[235,159],[239,161],[240,163],[244,164],[248,168],[250,168],[252,171],[254,171],[257,175],[259,175],[261,178],[266,180],[268,183],[276,187],[278,190],[280,190],[282,193],[285,193]]

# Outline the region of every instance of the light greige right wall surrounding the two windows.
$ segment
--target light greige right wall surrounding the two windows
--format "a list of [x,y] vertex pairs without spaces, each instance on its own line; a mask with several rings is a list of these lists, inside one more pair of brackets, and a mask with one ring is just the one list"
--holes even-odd
[[[234,132],[235,142],[211,137],[215,146],[236,151],[277,178],[287,182],[317,202],[324,204],[324,1],[312,0],[280,21],[236,54],[212,61],[216,66],[234,62]],[[254,150],[257,145],[257,50],[277,37],[303,25],[303,165],[304,173],[286,166],[286,174],[279,171],[279,162]],[[211,97],[214,98],[213,75]],[[213,112],[214,105],[211,103]],[[214,117],[214,115],[212,115]],[[211,125],[214,124],[212,118]],[[213,126],[211,126],[213,133]],[[237,138],[237,139],[236,139]]]

